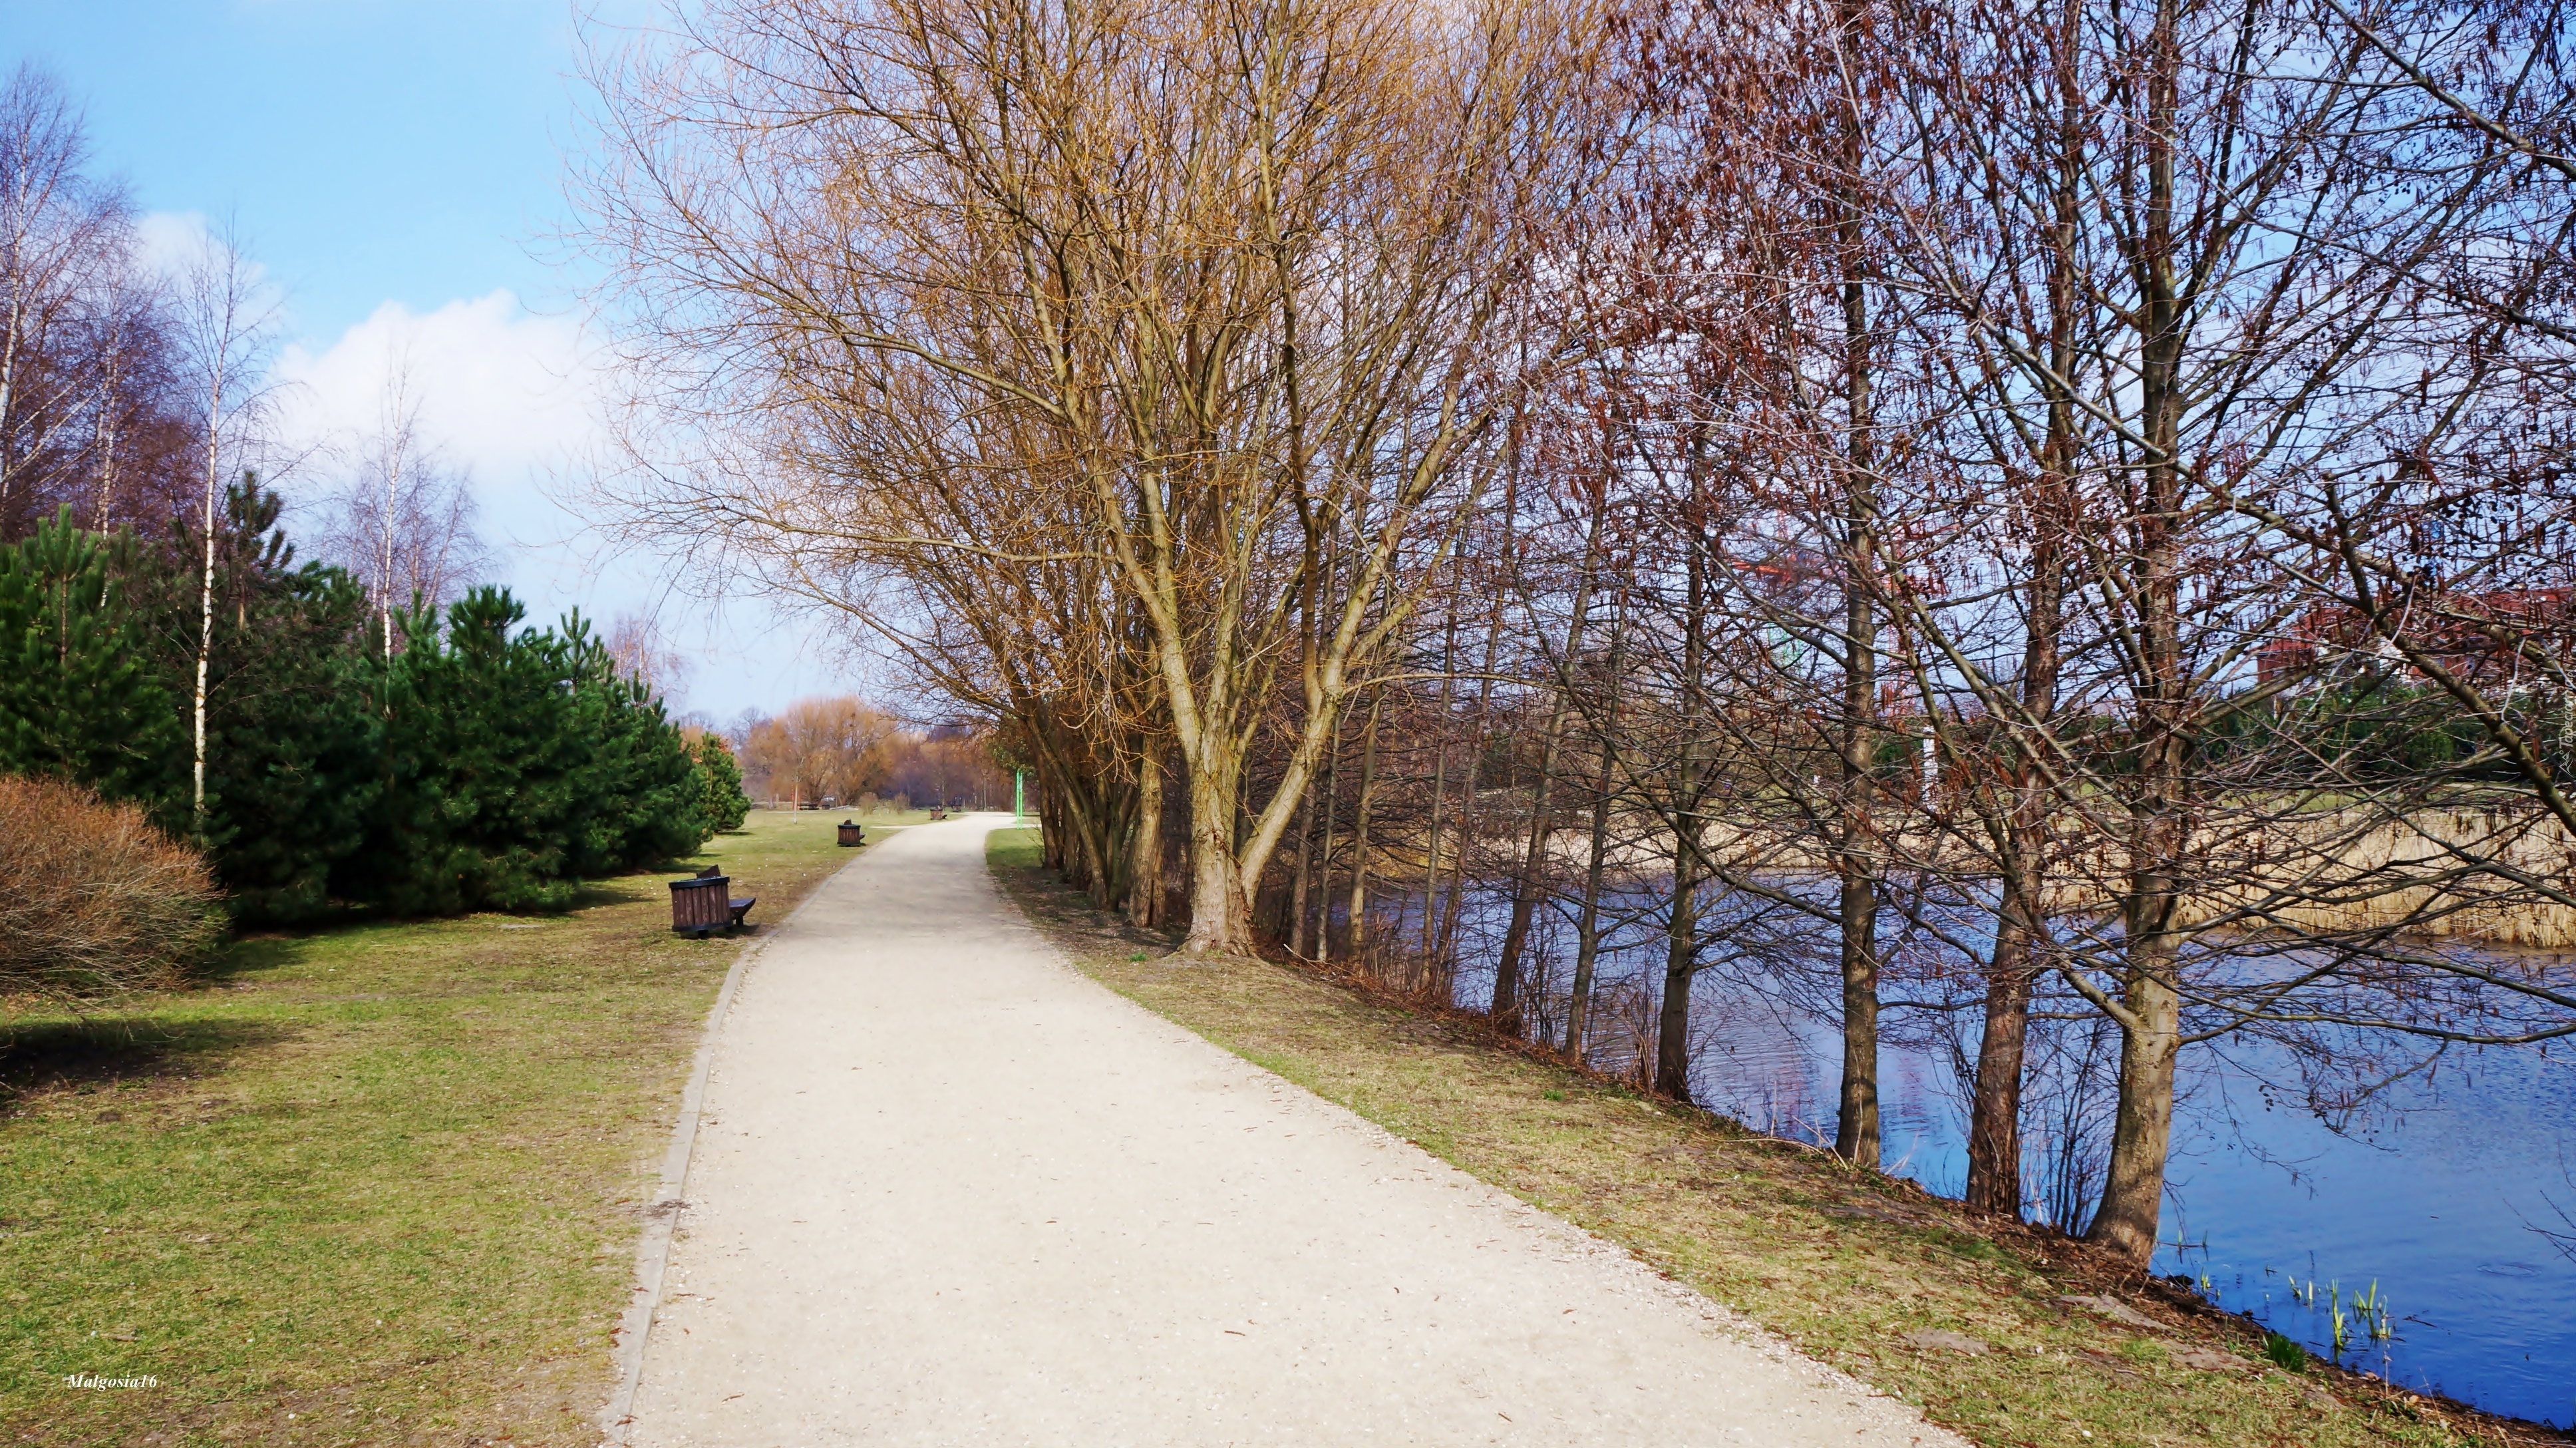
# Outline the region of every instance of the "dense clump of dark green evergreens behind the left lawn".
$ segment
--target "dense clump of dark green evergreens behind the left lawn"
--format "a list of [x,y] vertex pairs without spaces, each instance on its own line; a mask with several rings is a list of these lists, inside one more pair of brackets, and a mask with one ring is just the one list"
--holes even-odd
[[0,770],[134,801],[211,858],[237,920],[562,910],[582,879],[739,827],[742,773],[690,745],[572,616],[505,590],[415,605],[381,657],[363,590],[296,564],[245,477],[214,536],[206,806],[188,706],[206,541],[98,536],[70,513],[0,549]]

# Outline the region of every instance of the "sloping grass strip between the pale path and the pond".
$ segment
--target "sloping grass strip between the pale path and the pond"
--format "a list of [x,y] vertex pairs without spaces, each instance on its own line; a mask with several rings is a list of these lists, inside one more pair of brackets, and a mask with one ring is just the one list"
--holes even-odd
[[2318,1363],[2282,1368],[2249,1322],[2063,1237],[1984,1224],[1899,1177],[1646,1100],[1471,1018],[1293,966],[1180,961],[1141,933],[1103,938],[1084,897],[1041,868],[1036,830],[997,830],[989,858],[1092,979],[1633,1250],[1976,1443],[2571,1440]]

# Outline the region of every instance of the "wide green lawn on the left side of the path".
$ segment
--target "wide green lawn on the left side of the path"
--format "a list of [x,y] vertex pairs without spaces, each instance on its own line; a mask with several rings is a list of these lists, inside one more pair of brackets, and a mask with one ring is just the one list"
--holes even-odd
[[[701,863],[775,925],[850,858],[837,819],[755,812]],[[665,879],[0,1015],[0,1445],[598,1443],[636,1208],[742,948],[675,938]]]

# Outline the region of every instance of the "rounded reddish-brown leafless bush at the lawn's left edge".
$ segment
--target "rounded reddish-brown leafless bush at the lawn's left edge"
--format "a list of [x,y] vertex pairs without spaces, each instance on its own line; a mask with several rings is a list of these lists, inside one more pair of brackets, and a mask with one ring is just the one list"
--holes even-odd
[[222,938],[206,858],[131,804],[0,776],[0,997],[162,987]]

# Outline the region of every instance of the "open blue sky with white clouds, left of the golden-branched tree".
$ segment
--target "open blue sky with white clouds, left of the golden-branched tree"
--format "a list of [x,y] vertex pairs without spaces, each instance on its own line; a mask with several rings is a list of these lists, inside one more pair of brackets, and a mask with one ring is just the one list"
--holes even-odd
[[294,428],[355,425],[392,350],[412,353],[428,430],[471,469],[536,616],[657,613],[693,654],[677,703],[719,719],[840,685],[799,629],[744,603],[706,624],[554,502],[595,417],[582,276],[546,240],[574,137],[567,0],[0,0],[0,64],[21,59],[85,106],[95,170],[155,232],[229,216],[286,296]]

